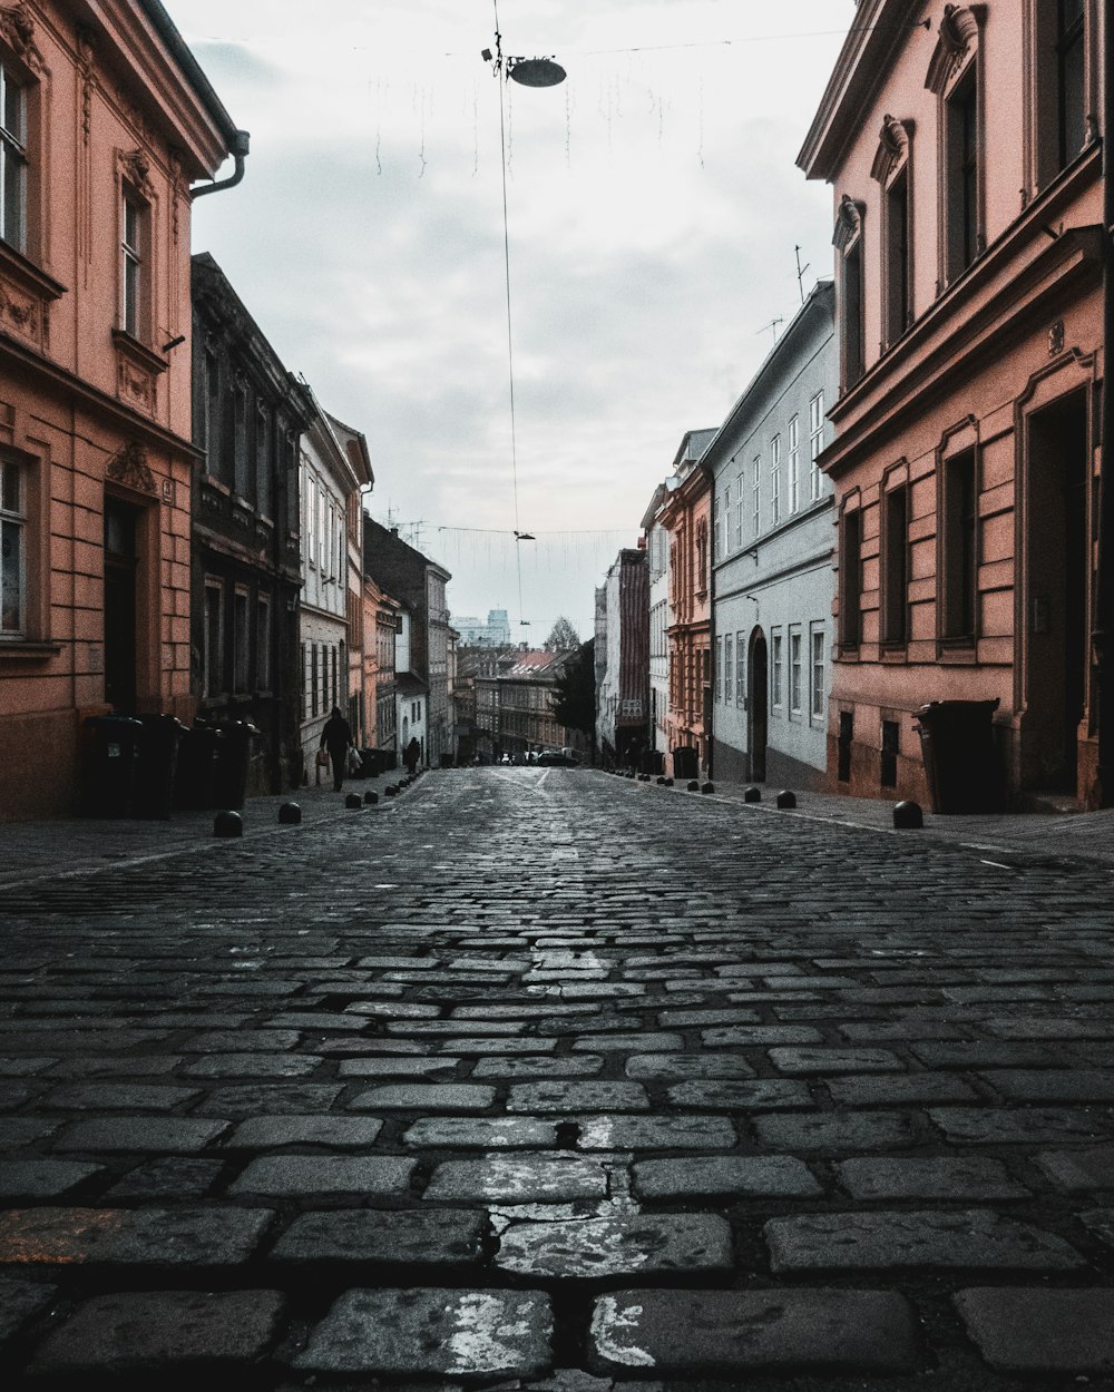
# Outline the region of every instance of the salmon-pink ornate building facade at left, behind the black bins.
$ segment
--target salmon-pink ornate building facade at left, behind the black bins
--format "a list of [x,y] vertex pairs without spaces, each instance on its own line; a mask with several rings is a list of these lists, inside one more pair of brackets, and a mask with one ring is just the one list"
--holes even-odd
[[246,152],[157,0],[0,8],[0,820],[189,718],[191,182]]

